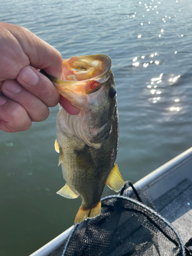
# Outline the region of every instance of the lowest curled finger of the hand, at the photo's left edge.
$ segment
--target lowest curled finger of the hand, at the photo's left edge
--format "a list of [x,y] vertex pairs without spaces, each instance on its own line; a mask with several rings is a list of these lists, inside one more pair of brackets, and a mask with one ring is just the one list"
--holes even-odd
[[32,121],[22,105],[0,96],[0,129],[14,133],[28,130]]

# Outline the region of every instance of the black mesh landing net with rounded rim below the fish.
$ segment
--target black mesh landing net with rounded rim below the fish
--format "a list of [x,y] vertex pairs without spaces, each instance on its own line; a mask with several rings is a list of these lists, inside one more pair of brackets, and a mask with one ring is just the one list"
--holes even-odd
[[54,255],[185,255],[177,231],[158,214],[147,195],[129,182],[120,195],[101,202],[101,215],[75,225],[62,251]]

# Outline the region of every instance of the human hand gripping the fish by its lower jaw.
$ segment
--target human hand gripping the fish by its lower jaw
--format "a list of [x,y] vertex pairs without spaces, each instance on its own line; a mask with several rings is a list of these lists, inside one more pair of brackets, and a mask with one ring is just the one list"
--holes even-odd
[[23,27],[2,22],[0,45],[0,130],[28,130],[58,102],[69,114],[79,113],[37,70],[62,79],[62,57],[55,48]]

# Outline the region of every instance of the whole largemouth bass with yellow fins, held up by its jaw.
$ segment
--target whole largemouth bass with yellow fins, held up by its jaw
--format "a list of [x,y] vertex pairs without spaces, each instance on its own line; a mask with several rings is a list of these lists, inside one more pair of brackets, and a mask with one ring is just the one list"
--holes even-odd
[[104,54],[73,56],[62,62],[64,80],[48,76],[59,94],[80,109],[70,115],[59,106],[55,140],[66,181],[57,194],[82,199],[75,223],[100,214],[105,184],[116,192],[124,186],[116,163],[119,130],[111,66]]

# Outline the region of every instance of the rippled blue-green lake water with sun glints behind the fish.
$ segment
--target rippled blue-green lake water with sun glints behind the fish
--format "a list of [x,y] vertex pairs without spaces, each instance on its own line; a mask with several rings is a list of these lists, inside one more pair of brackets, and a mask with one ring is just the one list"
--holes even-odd
[[[0,4],[2,22],[28,28],[63,58],[112,58],[124,180],[139,180],[192,145],[191,1]],[[65,184],[54,150],[57,112],[29,131],[0,132],[1,256],[29,255],[74,222],[80,199],[56,195]]]

